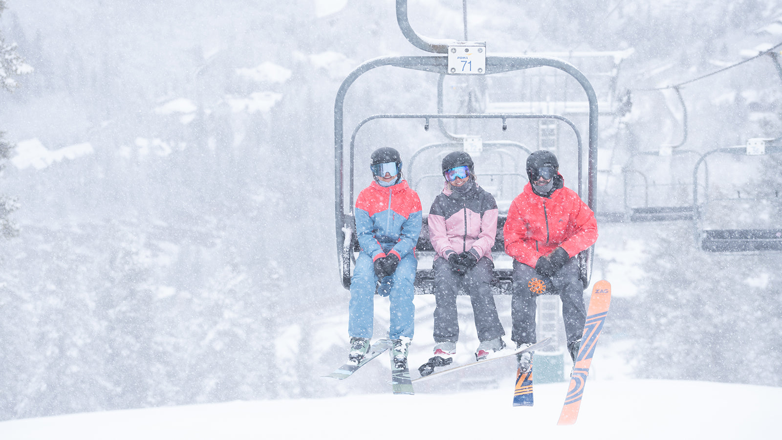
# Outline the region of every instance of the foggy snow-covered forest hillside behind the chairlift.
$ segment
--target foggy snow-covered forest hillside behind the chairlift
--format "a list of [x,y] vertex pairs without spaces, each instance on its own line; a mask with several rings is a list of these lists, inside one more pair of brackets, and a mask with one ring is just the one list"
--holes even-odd
[[[317,379],[347,347],[333,106],[365,60],[423,53],[400,33],[394,2],[5,6],[0,46],[16,44],[32,71],[0,90],[0,420],[344,392]],[[411,0],[411,24],[460,39],[461,8]],[[634,49],[617,87],[632,92],[633,109],[601,120],[614,169],[681,136],[679,103],[653,89],[782,42],[772,0],[490,0],[468,2],[468,14],[470,38],[493,52]],[[435,82],[375,78],[387,87],[354,85],[350,109],[436,111]],[[682,91],[691,150],[782,131],[769,56]],[[422,145],[392,132],[409,146],[403,157]],[[89,147],[15,166],[14,146],[31,139],[51,151]],[[719,179],[777,191],[779,157],[759,162],[752,175]],[[686,187],[691,176],[679,179]],[[778,216],[739,209],[715,217],[779,227]],[[779,253],[707,254],[689,222],[600,228],[596,276],[633,279],[605,334],[632,341],[624,355],[635,377],[782,385]],[[431,342],[425,331],[417,339]]]

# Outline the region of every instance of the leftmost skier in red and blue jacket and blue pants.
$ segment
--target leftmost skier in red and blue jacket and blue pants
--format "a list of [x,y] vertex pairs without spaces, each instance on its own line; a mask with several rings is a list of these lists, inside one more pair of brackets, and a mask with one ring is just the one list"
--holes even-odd
[[370,168],[375,181],[356,199],[354,214],[361,251],[350,279],[350,354],[361,362],[369,349],[375,292],[390,301],[389,339],[396,366],[407,366],[413,338],[415,244],[421,235],[421,200],[402,178],[402,160],[389,147],[375,150]]

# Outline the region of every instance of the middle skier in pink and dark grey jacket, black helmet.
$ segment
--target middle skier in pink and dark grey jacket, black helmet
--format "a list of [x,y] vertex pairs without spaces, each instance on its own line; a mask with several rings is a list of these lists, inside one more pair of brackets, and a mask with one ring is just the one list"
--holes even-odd
[[429,240],[436,252],[434,270],[434,356],[421,365],[421,376],[446,366],[456,354],[459,323],[456,297],[461,288],[470,295],[480,342],[475,358],[485,359],[505,347],[505,334],[491,281],[491,248],[497,233],[497,202],[475,182],[472,157],[454,151],[443,158],[445,188],[429,210]]

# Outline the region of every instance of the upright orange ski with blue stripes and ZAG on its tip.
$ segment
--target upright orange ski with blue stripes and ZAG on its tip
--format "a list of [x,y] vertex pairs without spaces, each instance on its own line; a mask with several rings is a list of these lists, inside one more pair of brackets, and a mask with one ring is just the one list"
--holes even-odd
[[598,281],[592,289],[589,310],[587,310],[587,323],[584,324],[584,333],[581,339],[581,348],[579,348],[579,354],[576,355],[576,366],[573,367],[573,371],[570,373],[568,395],[565,397],[565,405],[562,406],[562,412],[559,415],[557,424],[575,424],[576,419],[579,417],[581,398],[583,397],[584,385],[587,383],[587,375],[592,363],[592,356],[594,356],[594,348],[603,330],[605,317],[608,315],[608,306],[610,305],[611,284],[606,280]]

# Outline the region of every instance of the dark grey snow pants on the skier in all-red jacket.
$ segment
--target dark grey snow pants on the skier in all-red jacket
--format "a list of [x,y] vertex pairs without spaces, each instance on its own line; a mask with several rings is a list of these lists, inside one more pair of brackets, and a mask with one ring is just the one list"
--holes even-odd
[[529,289],[529,283],[533,279],[543,280],[546,283],[545,294],[558,294],[562,300],[562,319],[565,321],[568,344],[582,336],[584,323],[587,321],[587,308],[583,300],[583,283],[580,278],[578,258],[570,258],[562,269],[549,279],[544,278],[528,265],[513,261],[512,278],[512,341],[537,342],[535,312],[538,295],[533,294]]

